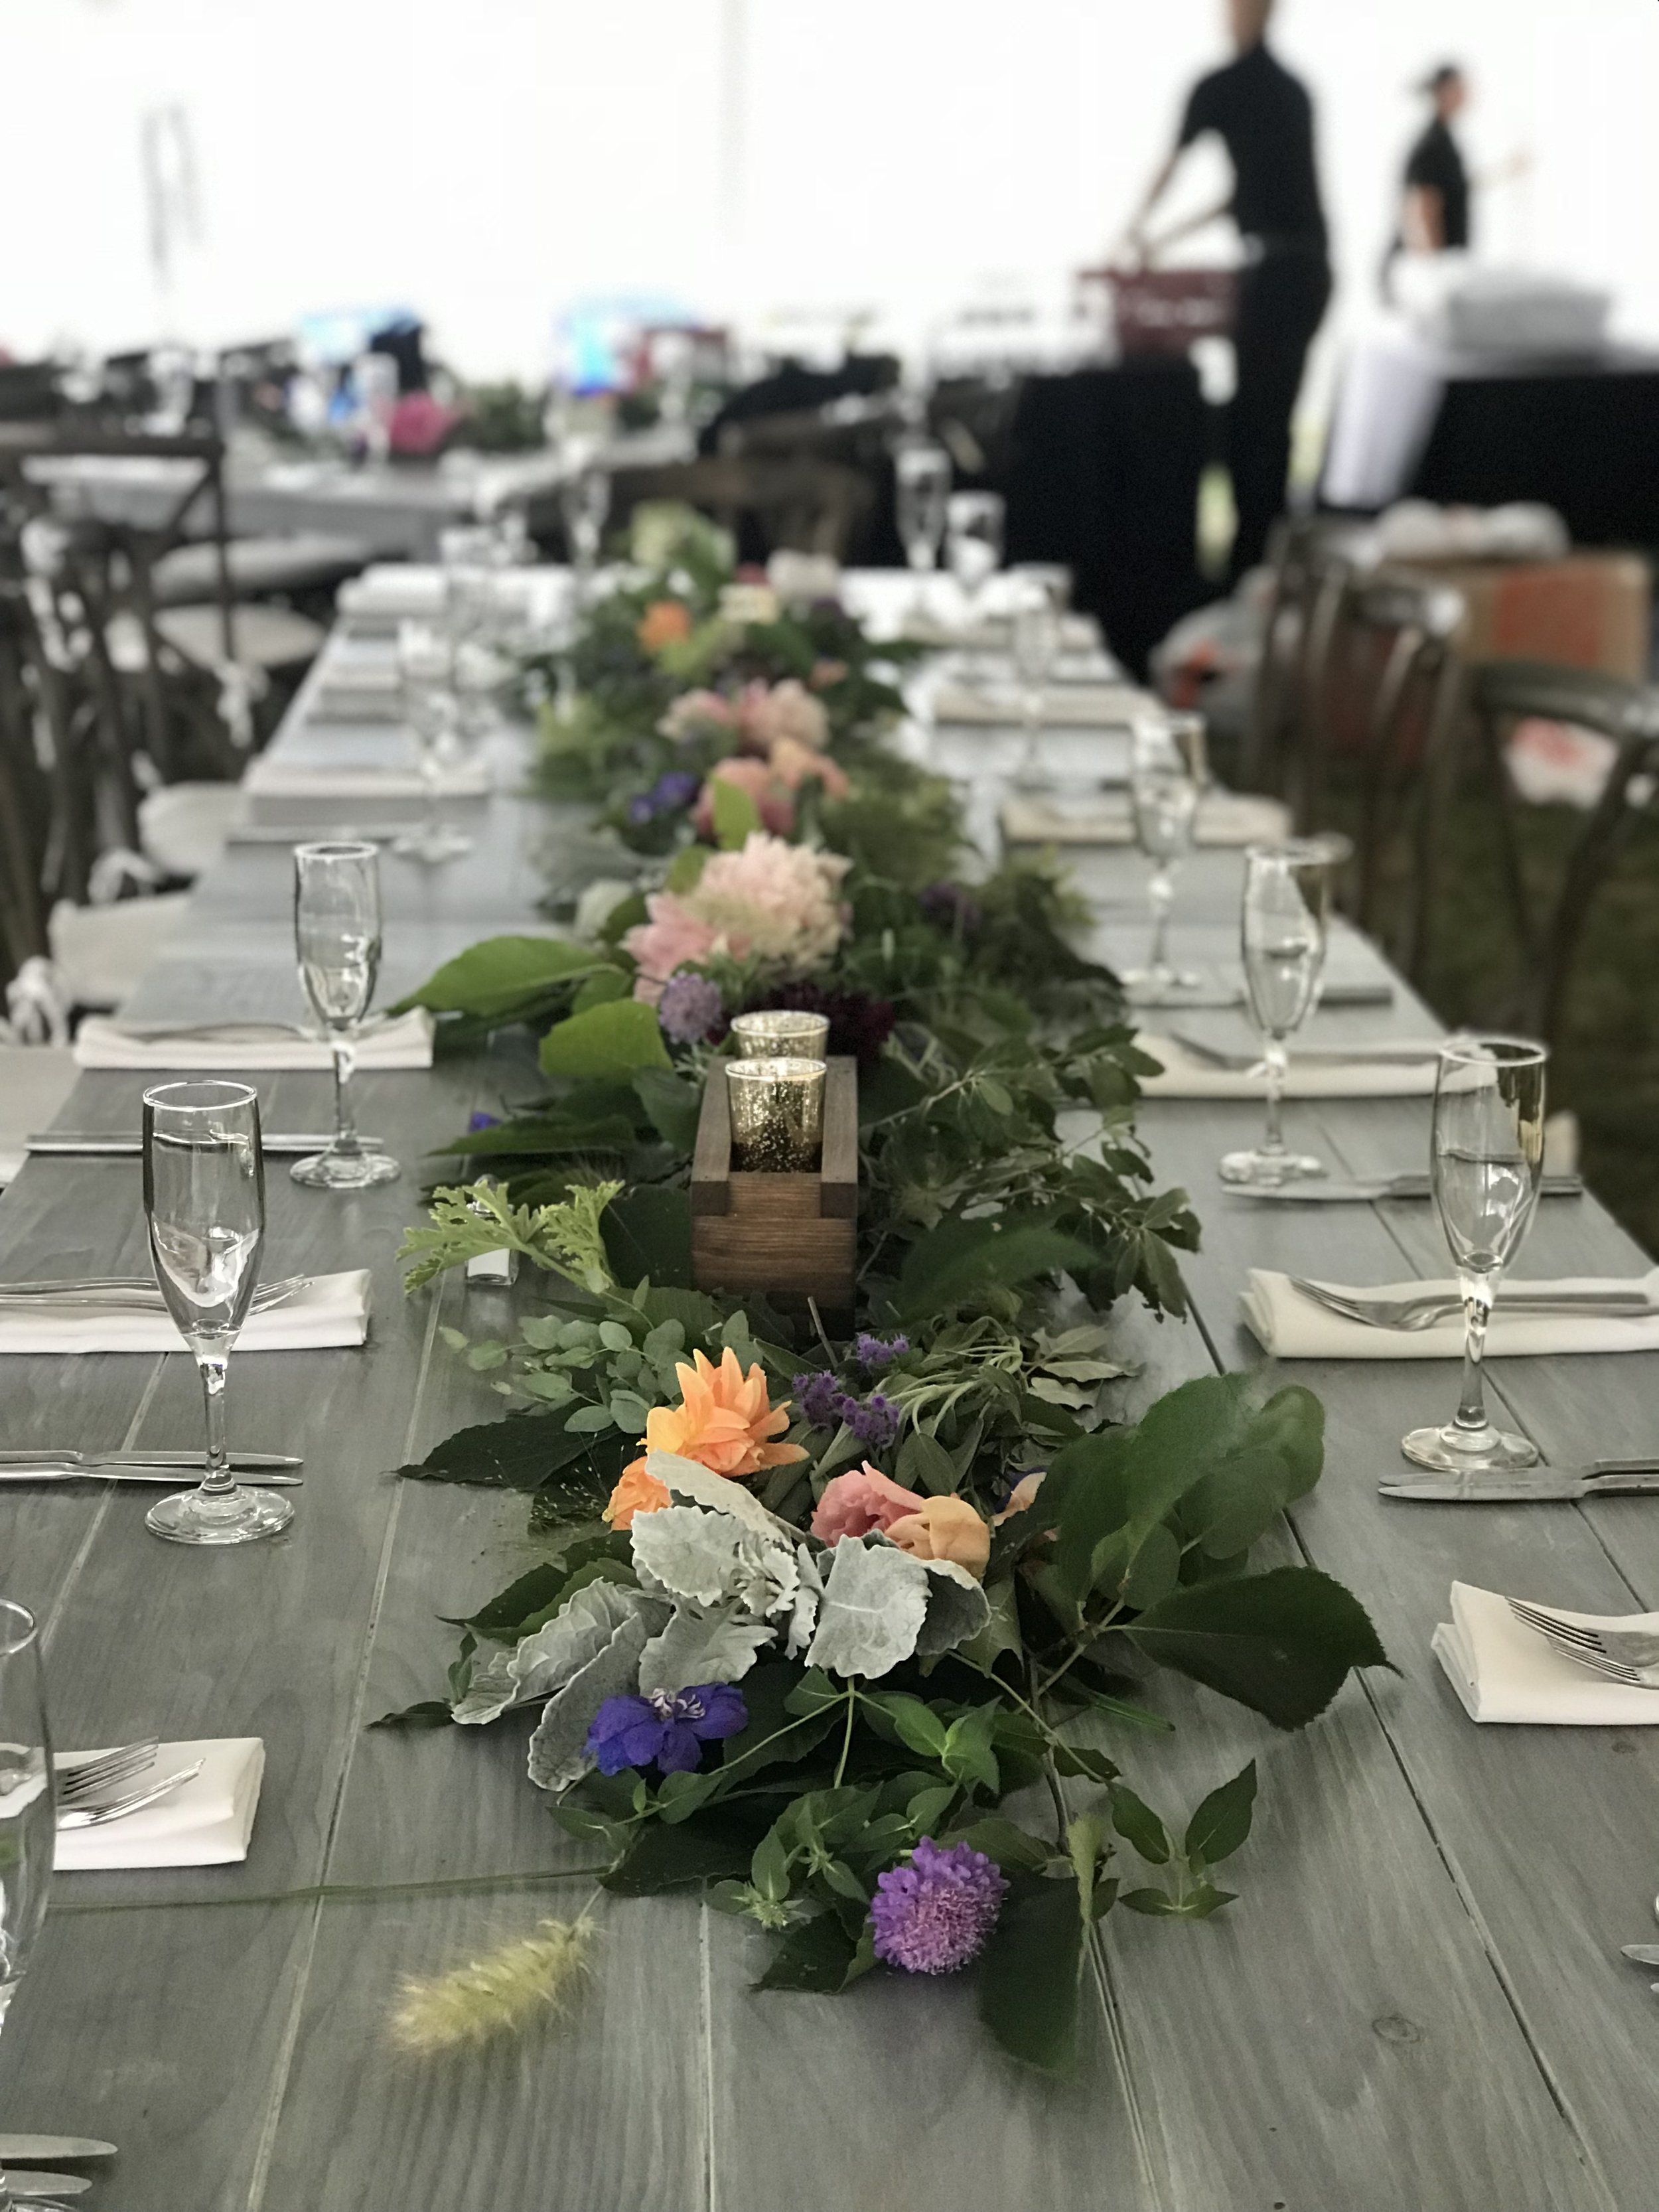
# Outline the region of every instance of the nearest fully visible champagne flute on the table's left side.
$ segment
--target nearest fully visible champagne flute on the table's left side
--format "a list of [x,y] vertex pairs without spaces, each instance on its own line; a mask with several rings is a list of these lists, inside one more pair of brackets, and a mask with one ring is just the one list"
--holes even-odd
[[248,1318],[265,1243],[259,1097],[248,1084],[161,1084],[144,1093],[144,1219],[161,1301],[195,1356],[208,1407],[201,1486],[144,1515],[175,1544],[250,1544],[294,1517],[292,1500],[243,1489],[226,1455],[226,1369]]

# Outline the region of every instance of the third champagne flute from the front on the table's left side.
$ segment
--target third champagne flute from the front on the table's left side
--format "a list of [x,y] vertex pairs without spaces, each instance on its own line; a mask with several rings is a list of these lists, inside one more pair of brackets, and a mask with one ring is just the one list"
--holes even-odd
[[334,1137],[288,1170],[310,1190],[394,1183],[398,1164],[356,1133],[352,1071],[356,1033],[380,969],[380,856],[374,845],[294,847],[294,951],[299,980],[334,1055]]

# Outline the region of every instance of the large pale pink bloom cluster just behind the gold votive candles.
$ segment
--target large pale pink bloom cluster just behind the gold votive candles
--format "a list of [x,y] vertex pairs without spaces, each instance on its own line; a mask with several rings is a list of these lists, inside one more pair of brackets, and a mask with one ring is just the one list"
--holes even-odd
[[717,852],[690,891],[655,891],[648,922],[622,940],[639,964],[633,995],[653,1006],[679,967],[730,953],[812,969],[847,929],[836,900],[852,863],[752,830],[741,852]]

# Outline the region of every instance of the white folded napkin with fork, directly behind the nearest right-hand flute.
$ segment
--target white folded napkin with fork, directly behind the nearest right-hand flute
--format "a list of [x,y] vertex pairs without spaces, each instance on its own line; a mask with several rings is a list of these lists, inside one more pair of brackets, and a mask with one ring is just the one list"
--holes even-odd
[[[1318,1279],[1323,1281],[1323,1279]],[[1327,1283],[1356,1298],[1458,1296],[1447,1283]],[[1517,1281],[1515,1290],[1646,1290],[1659,1305],[1659,1267],[1646,1276],[1564,1276],[1557,1283]],[[1281,1360],[1455,1360],[1462,1358],[1462,1312],[1429,1329],[1374,1329],[1343,1321],[1316,1298],[1292,1290],[1290,1276],[1252,1267],[1239,1298],[1243,1316],[1263,1352]],[[1486,1329],[1486,1356],[1495,1360],[1555,1352],[1659,1352],[1659,1312],[1635,1318],[1577,1314],[1506,1314],[1502,1290]]]

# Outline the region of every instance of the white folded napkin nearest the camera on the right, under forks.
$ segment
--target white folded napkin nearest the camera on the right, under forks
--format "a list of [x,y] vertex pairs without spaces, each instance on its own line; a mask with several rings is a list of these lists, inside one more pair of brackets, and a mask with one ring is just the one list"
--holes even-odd
[[[1659,1632],[1659,1613],[1542,1610],[1577,1628]],[[1659,1721],[1659,1690],[1608,1681],[1588,1666],[1562,1659],[1540,1630],[1515,1619],[1495,1590],[1453,1582],[1451,1619],[1436,1628],[1431,1650],[1471,1721],[1535,1728],[1641,1728]]]

